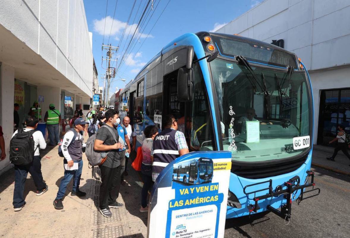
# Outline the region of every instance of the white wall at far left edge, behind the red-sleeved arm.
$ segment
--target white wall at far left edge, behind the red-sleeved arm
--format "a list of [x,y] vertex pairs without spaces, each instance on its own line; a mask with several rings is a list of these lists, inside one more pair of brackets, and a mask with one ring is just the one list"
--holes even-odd
[[5,139],[6,159],[0,161],[0,174],[12,166],[9,160],[9,142],[13,134],[13,98],[15,69],[2,63],[0,69],[1,113],[0,122]]

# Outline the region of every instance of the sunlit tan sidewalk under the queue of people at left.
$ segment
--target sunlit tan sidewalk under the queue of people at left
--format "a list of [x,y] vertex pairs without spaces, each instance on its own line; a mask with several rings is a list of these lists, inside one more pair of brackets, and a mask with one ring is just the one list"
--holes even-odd
[[[86,192],[83,199],[71,197],[72,181],[63,200],[64,209],[52,205],[63,178],[63,159],[58,156],[58,146],[41,151],[42,173],[49,186],[46,193],[36,196],[34,182],[28,173],[25,200],[27,205],[19,212],[13,211],[14,169],[0,176],[0,236],[23,238],[142,238],[147,236],[147,212],[140,213],[142,182],[129,162],[129,183],[121,186],[118,202],[123,208],[111,209],[111,218],[103,217],[97,210],[100,181],[92,178],[86,156],[83,153],[83,173],[80,190]],[[99,168],[95,168],[99,178]]]

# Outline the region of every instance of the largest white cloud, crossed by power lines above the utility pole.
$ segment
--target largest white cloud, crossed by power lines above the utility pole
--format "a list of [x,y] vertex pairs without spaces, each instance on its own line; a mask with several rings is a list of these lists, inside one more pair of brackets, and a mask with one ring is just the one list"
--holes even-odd
[[[111,36],[113,36],[115,40],[119,40],[120,36],[123,34],[124,28],[126,28],[124,33],[125,37],[127,37],[128,35],[133,35],[135,32],[135,38],[146,38],[147,34],[141,34],[139,32],[139,29],[136,29],[136,27],[137,24],[127,25],[126,22],[119,21],[118,19],[113,19],[111,16],[107,16],[106,18],[102,18],[101,20],[93,20],[93,29],[95,32],[97,32],[100,35],[103,35],[103,33],[105,33],[105,36],[109,36],[109,34],[111,33]],[[154,38],[154,36],[152,36],[151,34],[148,35],[148,37]]]

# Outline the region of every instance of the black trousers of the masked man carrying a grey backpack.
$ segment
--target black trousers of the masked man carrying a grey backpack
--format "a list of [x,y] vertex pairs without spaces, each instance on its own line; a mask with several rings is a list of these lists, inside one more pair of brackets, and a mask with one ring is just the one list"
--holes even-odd
[[116,202],[120,189],[120,167],[109,168],[100,166],[101,186],[100,186],[100,208],[108,208],[109,204]]

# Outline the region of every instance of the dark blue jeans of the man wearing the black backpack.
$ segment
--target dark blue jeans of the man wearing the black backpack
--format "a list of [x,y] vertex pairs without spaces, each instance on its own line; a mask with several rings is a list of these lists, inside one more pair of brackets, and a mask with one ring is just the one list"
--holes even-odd
[[27,179],[28,172],[34,180],[34,184],[37,190],[41,190],[46,187],[46,183],[43,181],[41,173],[41,157],[39,155],[34,156],[33,162],[29,165],[15,165],[15,189],[13,191],[13,207],[20,208],[24,203],[23,192]]

